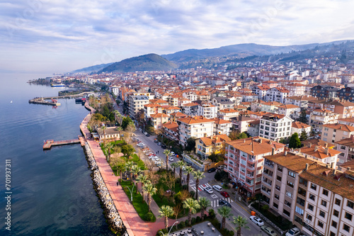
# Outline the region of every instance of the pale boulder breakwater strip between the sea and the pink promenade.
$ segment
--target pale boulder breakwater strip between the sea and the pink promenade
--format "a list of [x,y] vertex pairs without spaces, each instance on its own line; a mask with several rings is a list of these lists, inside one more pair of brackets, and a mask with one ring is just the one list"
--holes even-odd
[[127,230],[123,225],[118,210],[115,208],[107,186],[105,186],[105,182],[102,179],[101,173],[98,170],[96,161],[93,158],[93,154],[87,142],[85,144],[85,153],[87,162],[91,167],[93,185],[95,186],[96,192],[100,197],[101,205],[105,210],[105,217],[108,219],[108,224],[112,227],[113,231],[120,232],[121,235],[128,236]]

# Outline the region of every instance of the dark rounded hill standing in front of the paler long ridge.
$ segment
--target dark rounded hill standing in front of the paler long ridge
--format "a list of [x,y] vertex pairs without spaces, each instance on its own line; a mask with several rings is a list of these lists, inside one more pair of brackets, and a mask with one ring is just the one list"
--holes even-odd
[[108,67],[101,69],[102,72],[142,72],[154,70],[170,70],[176,69],[177,65],[169,62],[164,57],[157,54],[147,54],[139,57],[131,57],[120,62],[110,64]]

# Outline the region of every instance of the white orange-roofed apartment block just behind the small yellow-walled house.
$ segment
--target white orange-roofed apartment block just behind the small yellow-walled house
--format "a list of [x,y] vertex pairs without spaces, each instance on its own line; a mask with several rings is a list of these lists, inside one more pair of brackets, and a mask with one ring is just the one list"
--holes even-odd
[[207,137],[214,134],[214,120],[202,116],[179,118],[177,120],[180,144],[187,145],[190,137]]

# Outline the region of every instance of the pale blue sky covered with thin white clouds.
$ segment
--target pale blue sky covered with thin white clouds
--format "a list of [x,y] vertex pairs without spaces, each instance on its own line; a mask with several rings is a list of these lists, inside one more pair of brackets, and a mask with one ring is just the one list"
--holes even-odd
[[63,73],[148,53],[354,40],[351,0],[3,0],[0,72]]

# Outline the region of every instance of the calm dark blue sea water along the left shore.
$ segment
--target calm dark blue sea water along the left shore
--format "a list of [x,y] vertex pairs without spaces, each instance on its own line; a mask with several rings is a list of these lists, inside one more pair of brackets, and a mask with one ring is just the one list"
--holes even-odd
[[[57,109],[28,103],[57,95],[58,88],[26,83],[46,76],[0,74],[0,235],[113,235],[82,147],[42,150],[44,140],[80,135],[88,113],[74,99],[59,99]],[[11,211],[6,211],[5,159],[11,159]],[[5,228],[7,212],[11,231]]]

